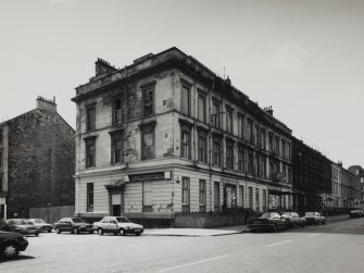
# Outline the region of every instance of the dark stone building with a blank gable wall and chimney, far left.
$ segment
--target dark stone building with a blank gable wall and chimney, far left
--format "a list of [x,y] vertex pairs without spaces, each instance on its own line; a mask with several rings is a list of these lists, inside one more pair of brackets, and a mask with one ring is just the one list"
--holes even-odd
[[28,218],[29,208],[74,204],[75,132],[55,101],[0,123],[1,218]]

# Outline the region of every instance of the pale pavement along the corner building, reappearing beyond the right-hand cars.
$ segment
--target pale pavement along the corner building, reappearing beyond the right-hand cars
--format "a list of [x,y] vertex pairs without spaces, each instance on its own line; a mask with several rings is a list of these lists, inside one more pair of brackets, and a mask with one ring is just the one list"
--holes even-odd
[[[327,216],[326,222],[343,221],[350,219],[349,215]],[[189,236],[189,237],[208,237],[223,236],[249,232],[247,225],[233,225],[213,228],[147,228],[143,235],[150,236]]]

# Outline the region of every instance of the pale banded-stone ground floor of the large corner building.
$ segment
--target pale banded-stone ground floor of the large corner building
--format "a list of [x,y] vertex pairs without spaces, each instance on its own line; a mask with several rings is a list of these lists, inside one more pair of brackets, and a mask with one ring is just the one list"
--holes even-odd
[[289,187],[192,167],[161,166],[76,177],[75,214],[85,219],[125,215],[168,221],[175,214],[291,209]]

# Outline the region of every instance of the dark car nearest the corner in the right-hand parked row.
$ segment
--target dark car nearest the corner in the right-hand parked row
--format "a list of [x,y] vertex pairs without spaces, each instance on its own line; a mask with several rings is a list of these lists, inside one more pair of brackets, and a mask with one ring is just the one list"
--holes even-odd
[[250,231],[255,229],[272,229],[277,232],[279,229],[286,229],[286,219],[281,218],[277,212],[265,212],[260,218],[254,218],[248,221]]

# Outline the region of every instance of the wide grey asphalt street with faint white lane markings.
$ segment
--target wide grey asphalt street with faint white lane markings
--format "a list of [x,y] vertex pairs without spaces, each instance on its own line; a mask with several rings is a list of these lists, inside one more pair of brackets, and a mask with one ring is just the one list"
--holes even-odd
[[227,236],[28,237],[0,272],[363,272],[364,219]]

